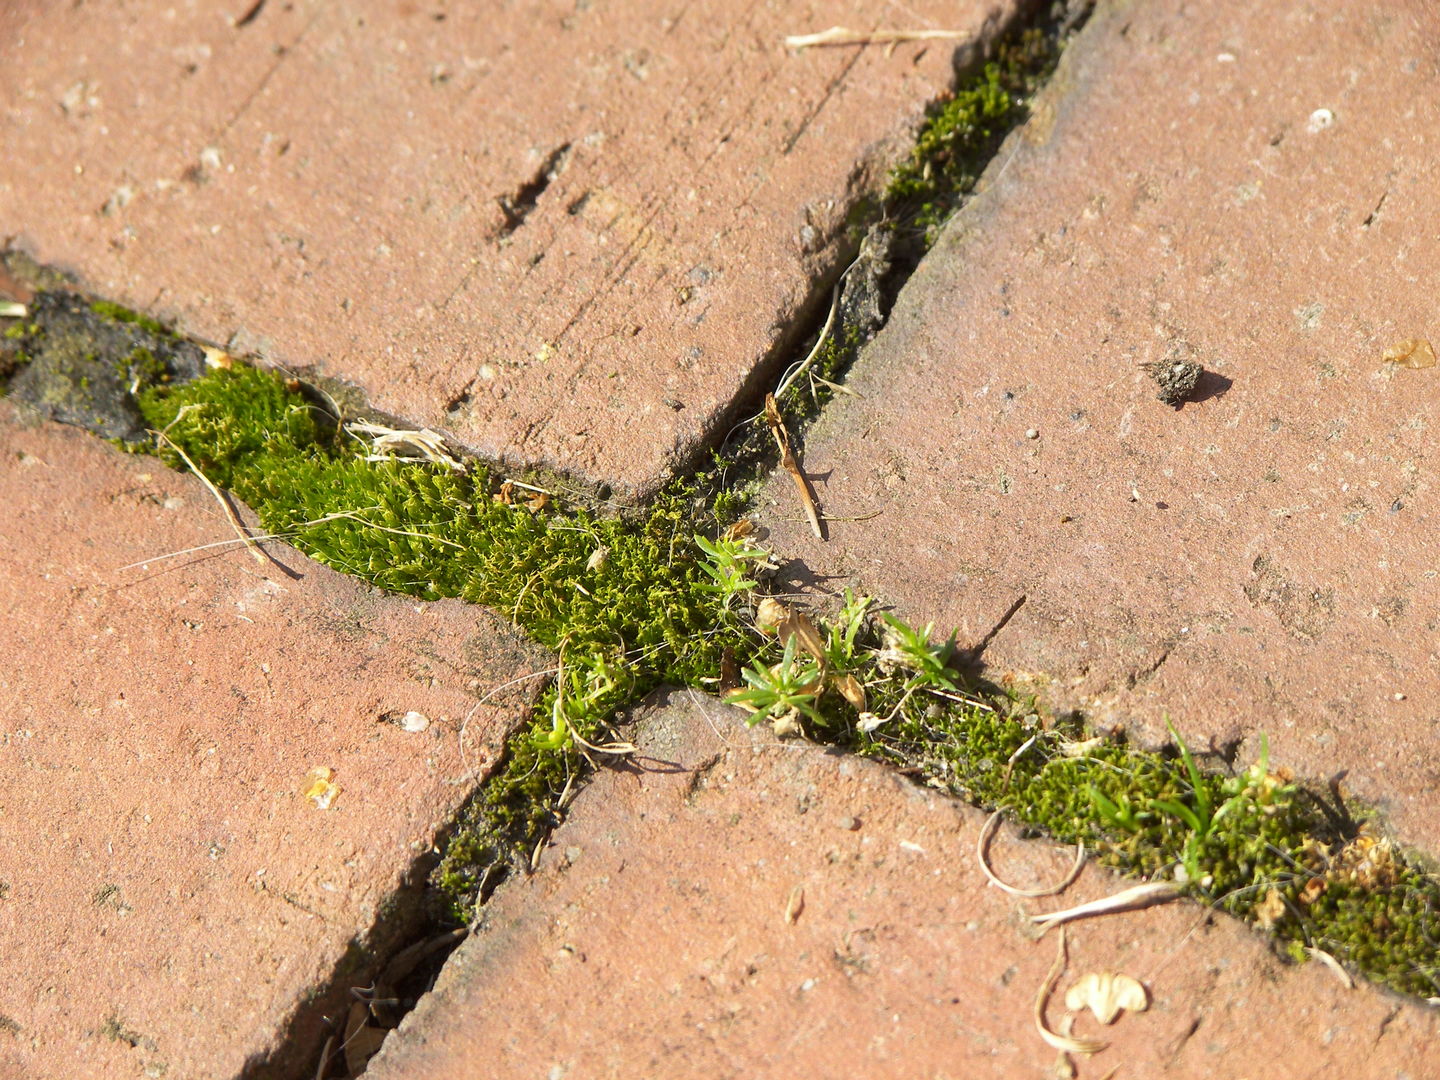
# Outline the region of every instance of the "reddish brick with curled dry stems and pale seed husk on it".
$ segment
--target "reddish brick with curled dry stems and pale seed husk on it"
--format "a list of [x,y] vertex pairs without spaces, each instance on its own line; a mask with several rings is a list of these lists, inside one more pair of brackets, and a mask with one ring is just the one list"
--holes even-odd
[[[986,886],[982,814],[690,693],[639,714],[639,753],[579,795],[539,874],[501,887],[367,1076],[1056,1076],[1031,1009],[1057,939]],[[1031,887],[1071,860],[1008,828],[992,857]],[[1122,884],[1092,867],[1024,904]],[[1130,973],[1152,998],[1112,1028],[1076,1021],[1113,1043],[1081,1077],[1433,1073],[1440,1015],[1282,966],[1189,904],[1077,923],[1068,953],[1051,1025],[1081,972]]]

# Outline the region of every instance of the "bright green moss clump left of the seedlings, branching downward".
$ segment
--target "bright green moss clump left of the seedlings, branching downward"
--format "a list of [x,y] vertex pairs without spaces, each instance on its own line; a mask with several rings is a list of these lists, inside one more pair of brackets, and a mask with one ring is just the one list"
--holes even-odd
[[[619,520],[541,508],[484,468],[364,461],[300,393],[245,366],[150,387],[140,406],[210,481],[314,559],[392,592],[485,603],[560,654],[531,729],[510,740],[504,772],[467,809],[438,871],[456,909],[485,867],[513,861],[553,824],[580,766],[576,746],[600,739],[615,708],[661,681],[698,684],[727,648],[752,651],[746,622],[717,603],[697,559],[690,485]],[[160,454],[183,468],[174,451]],[[729,498],[716,505],[723,513]]]

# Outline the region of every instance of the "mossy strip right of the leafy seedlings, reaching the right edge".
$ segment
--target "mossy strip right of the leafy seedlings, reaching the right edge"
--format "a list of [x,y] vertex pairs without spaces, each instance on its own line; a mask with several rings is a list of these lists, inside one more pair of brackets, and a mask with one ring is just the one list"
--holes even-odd
[[1001,701],[909,701],[851,746],[1120,873],[1178,880],[1296,959],[1319,949],[1392,989],[1440,994],[1440,881],[1344,806],[1263,759],[1204,772],[1178,737],[1175,753],[1149,753]]

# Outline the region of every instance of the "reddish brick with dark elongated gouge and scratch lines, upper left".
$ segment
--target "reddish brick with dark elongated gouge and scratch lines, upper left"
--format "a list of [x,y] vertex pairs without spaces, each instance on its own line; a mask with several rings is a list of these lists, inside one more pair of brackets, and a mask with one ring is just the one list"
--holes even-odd
[[649,490],[837,272],[960,42],[804,6],[7,4],[0,240],[507,462]]

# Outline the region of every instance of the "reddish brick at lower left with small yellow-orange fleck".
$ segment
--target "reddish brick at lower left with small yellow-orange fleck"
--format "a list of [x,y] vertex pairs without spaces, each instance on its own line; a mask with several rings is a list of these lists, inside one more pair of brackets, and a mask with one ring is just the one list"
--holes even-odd
[[233,536],[200,484],[4,402],[0,505],[0,1076],[238,1076],[366,984],[351,943],[528,701],[477,698],[544,661],[282,544],[160,559]]

